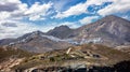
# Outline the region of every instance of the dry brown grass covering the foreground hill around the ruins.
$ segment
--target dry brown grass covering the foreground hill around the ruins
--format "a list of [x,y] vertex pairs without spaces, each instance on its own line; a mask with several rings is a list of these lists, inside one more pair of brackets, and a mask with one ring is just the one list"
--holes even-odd
[[[120,51],[114,49],[113,47],[107,47],[99,44],[83,44],[80,46],[73,46],[70,53],[77,53],[77,58],[70,57],[70,54],[65,54],[67,49],[61,49],[61,51],[53,51],[48,52],[44,54],[36,55],[29,58],[26,58],[25,61],[23,61],[20,66],[16,67],[16,69],[28,69],[36,66],[63,66],[63,63],[68,62],[91,62],[92,64],[99,63],[101,66],[112,66],[119,61],[123,60],[130,60],[130,55],[127,53],[122,53]],[[78,48],[78,51],[77,51]],[[84,56],[82,51],[89,51],[92,53],[96,53],[101,56],[104,56],[107,59],[100,59],[100,58],[88,58],[84,59],[80,56]],[[44,59],[41,59],[41,57],[44,57]]]

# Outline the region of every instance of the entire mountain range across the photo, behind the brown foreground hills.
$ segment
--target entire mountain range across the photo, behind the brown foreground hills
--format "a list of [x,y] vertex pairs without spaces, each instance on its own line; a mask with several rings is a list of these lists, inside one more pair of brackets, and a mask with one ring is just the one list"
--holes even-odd
[[108,15],[77,29],[55,27],[43,33],[34,31],[17,39],[0,40],[0,45],[12,45],[29,52],[48,52],[73,45],[96,43],[107,46],[130,45],[130,21]]

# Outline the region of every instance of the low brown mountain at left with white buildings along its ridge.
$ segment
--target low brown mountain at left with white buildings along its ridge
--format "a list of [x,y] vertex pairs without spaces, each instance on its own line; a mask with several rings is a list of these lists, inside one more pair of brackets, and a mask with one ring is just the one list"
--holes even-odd
[[17,39],[13,39],[12,41],[8,42],[9,40],[2,40],[3,45],[9,45],[12,47],[26,49],[28,52],[35,53],[43,53],[53,49],[61,49],[70,46],[69,43],[62,41],[61,39],[54,38],[52,35],[46,35],[41,31],[34,31]]

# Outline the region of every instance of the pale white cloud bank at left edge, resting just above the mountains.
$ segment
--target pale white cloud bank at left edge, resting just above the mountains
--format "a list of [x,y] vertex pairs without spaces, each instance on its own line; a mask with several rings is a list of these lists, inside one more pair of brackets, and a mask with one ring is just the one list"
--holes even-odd
[[38,30],[39,27],[30,24],[6,20],[0,21],[0,39],[17,38],[27,32]]

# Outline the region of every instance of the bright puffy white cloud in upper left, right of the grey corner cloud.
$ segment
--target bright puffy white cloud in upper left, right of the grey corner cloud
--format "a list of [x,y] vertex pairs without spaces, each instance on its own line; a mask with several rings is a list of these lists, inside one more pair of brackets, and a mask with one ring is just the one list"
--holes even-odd
[[36,2],[25,12],[25,15],[29,15],[29,20],[43,20],[43,16],[47,15],[51,8],[51,2],[47,4],[40,4],[39,2]]

